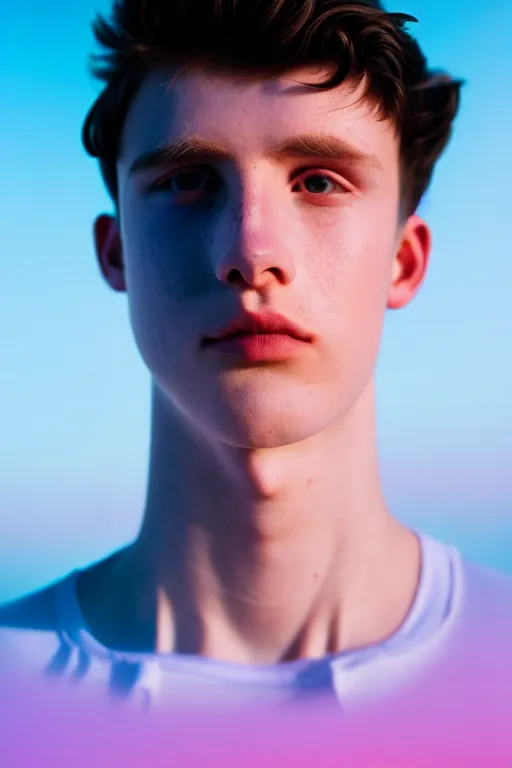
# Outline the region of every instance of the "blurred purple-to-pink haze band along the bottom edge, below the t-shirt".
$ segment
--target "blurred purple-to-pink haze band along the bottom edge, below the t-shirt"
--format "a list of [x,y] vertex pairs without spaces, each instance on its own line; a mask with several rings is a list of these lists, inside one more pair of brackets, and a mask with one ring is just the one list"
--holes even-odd
[[0,754],[6,768],[510,768],[510,717],[498,722],[496,711],[503,709],[497,704],[488,722],[466,700],[440,702],[438,695],[348,719],[319,703],[229,716],[171,710],[148,717],[122,709],[107,714],[87,699],[78,703],[62,692],[36,693],[18,684],[2,707]]

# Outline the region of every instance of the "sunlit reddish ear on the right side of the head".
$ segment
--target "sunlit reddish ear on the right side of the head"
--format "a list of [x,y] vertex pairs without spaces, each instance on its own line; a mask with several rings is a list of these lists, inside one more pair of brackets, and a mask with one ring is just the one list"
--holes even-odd
[[419,216],[407,219],[393,261],[388,309],[401,309],[417,294],[427,273],[432,245],[428,225]]

